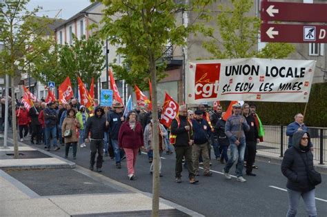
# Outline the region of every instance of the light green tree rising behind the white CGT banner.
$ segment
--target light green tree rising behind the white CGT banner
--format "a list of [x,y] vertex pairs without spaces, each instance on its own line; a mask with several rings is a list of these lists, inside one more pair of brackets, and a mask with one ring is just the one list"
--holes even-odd
[[214,59],[260,57],[283,59],[295,51],[288,43],[267,43],[257,51],[260,19],[249,16],[253,6],[251,0],[232,0],[232,8],[220,4],[219,14],[215,18],[219,37],[215,28],[200,26],[199,30],[210,40],[203,43],[204,48]]

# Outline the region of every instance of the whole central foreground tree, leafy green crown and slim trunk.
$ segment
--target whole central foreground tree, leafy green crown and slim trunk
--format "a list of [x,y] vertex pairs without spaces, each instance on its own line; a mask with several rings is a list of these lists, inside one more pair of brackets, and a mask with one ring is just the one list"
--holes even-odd
[[[184,45],[191,28],[177,23],[177,12],[191,8],[181,1],[172,0],[103,0],[105,17],[101,21],[101,35],[112,45],[119,45],[132,78],[150,76],[152,82],[152,119],[154,176],[152,185],[152,216],[159,216],[159,138],[157,114],[157,76],[164,65],[162,56],[166,45]],[[193,6],[204,8],[210,1],[192,1]],[[127,73],[125,71],[124,73]],[[128,78],[128,75],[126,75]],[[144,82],[144,81],[143,81]]]

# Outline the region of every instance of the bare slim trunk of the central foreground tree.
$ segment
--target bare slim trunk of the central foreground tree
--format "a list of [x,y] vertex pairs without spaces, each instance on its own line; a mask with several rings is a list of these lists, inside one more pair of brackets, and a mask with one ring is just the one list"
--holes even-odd
[[[153,54],[150,54],[150,74],[152,83],[152,147],[154,163],[152,179],[152,216],[159,216],[159,120],[157,112],[157,72]],[[164,143],[164,139],[162,142]]]

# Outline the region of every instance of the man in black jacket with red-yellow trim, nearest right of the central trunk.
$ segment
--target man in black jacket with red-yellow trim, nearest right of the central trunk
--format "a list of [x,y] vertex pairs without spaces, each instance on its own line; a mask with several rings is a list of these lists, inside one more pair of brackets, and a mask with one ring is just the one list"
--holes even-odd
[[176,166],[175,177],[176,182],[181,183],[181,172],[183,157],[188,165],[188,178],[190,183],[198,183],[198,180],[194,178],[194,170],[192,163],[192,145],[193,145],[193,132],[192,124],[188,120],[188,110],[186,105],[179,106],[179,116],[172,121],[170,126],[170,141],[175,146],[176,153]]

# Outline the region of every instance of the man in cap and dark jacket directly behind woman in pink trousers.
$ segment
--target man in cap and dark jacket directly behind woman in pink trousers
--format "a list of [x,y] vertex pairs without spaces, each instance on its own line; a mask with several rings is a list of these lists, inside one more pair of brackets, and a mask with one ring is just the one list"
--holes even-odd
[[117,169],[121,169],[121,157],[123,156],[123,150],[121,150],[118,145],[118,134],[119,128],[124,121],[123,105],[121,105],[121,103],[115,103],[112,108],[114,111],[108,112],[107,114],[107,120],[109,123],[109,139],[115,152],[116,167]]

